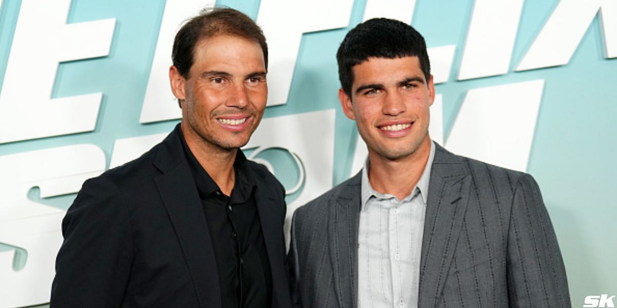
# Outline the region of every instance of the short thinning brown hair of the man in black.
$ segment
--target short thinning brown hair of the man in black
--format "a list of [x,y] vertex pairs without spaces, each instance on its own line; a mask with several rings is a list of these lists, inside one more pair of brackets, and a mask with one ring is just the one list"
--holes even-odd
[[263,61],[268,69],[268,45],[259,28],[250,17],[228,7],[203,9],[196,17],[190,18],[176,33],[173,41],[172,61],[180,75],[188,78],[193,66],[194,49],[202,39],[217,35],[232,35],[259,43],[263,51]]

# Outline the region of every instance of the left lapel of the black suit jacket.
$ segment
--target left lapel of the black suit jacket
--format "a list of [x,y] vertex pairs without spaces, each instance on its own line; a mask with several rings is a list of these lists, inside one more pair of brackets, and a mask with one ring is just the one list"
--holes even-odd
[[221,307],[220,285],[212,240],[199,194],[184,156],[180,131],[162,143],[154,165],[163,173],[154,177],[167,214],[180,241],[200,307]]

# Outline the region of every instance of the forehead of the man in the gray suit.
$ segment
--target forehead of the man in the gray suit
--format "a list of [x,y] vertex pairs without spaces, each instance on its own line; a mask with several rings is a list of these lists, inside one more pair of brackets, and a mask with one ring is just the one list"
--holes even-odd
[[394,59],[371,57],[365,62],[354,65],[352,73],[354,73],[353,87],[365,83],[397,82],[412,77],[424,80],[420,60],[416,56]]

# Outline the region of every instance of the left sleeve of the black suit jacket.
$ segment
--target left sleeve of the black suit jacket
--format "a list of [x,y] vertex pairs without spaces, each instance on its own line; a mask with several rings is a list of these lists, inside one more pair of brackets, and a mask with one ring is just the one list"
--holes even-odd
[[62,221],[50,307],[119,307],[131,268],[129,213],[118,188],[85,182]]

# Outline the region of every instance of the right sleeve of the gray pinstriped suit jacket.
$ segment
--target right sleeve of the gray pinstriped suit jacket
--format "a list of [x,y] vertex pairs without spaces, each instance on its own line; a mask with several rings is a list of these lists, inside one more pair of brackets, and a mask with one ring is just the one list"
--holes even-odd
[[571,307],[557,237],[529,174],[515,187],[507,262],[510,307]]

